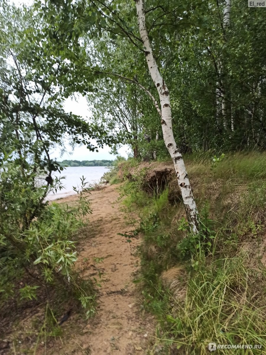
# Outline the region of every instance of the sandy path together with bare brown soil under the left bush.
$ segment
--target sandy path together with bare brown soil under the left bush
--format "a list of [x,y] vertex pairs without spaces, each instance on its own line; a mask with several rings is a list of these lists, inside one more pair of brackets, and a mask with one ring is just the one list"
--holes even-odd
[[[28,336],[34,330],[33,317],[25,318],[4,340],[9,345],[9,351],[2,349],[5,354],[144,355],[152,347],[155,319],[143,310],[141,292],[133,283],[139,267],[136,248],[141,239],[136,237],[129,243],[118,235],[133,229],[118,201],[118,188],[112,185],[91,192],[92,214],[85,216],[89,225],[78,248],[76,264],[80,274],[96,278],[100,285],[96,315],[84,321],[72,311],[61,326],[62,337],[38,344],[36,338],[30,340]],[[69,196],[57,202],[71,204],[75,198]]]

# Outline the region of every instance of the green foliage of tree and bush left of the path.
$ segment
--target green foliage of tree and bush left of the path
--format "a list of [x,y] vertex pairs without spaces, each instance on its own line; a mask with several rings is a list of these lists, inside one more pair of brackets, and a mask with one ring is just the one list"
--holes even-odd
[[64,111],[55,63],[38,55],[40,43],[29,39],[38,26],[32,16],[31,9],[1,1],[0,306],[8,301],[19,307],[22,300],[38,298],[39,288],[42,295],[43,287],[61,283],[59,293],[69,290],[90,313],[93,287],[89,282],[87,289],[80,288],[73,269],[75,238],[84,214],[90,213],[89,203],[78,190],[78,203],[71,208],[48,204],[46,196],[61,189],[52,172],[63,167],[51,158],[51,149],[64,150],[69,139],[94,151],[90,139],[101,146],[107,135]]

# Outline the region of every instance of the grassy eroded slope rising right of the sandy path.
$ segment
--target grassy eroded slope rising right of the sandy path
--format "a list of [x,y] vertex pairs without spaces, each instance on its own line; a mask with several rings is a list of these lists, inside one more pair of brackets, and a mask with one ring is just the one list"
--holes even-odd
[[206,354],[209,342],[264,349],[217,354],[266,353],[266,154],[186,160],[202,220],[196,237],[182,203],[169,203],[169,191],[178,197],[175,180],[159,196],[147,195],[146,172],[138,169],[123,188],[126,211],[138,211],[141,220],[131,221],[143,235],[136,282],[160,324],[151,354]]

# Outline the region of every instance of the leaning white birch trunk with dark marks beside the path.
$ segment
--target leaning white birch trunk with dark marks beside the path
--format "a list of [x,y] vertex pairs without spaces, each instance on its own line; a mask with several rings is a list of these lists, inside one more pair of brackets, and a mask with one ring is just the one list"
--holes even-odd
[[147,28],[146,28],[143,0],[136,0],[136,8],[137,8],[137,18],[138,18],[138,27],[140,30],[140,37],[143,43],[143,47],[145,49],[145,55],[146,55],[146,60],[149,68],[149,73],[157,88],[159,98],[160,98],[160,105],[162,111],[161,123],[162,123],[164,142],[174,163],[176,177],[178,180],[178,184],[180,186],[189,227],[191,231],[196,234],[198,232],[198,211],[191,190],[191,186],[189,184],[186,167],[182,155],[180,153],[180,150],[176,146],[176,142],[172,132],[172,115],[171,115],[169,90],[162,76],[160,75],[159,69],[157,67],[157,63],[153,56],[153,52],[152,52],[151,44],[149,42]]

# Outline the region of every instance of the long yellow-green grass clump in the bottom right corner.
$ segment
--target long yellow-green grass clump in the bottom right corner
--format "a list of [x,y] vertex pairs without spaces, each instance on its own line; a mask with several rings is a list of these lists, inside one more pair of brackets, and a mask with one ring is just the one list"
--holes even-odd
[[[183,301],[172,299],[166,344],[180,354],[205,354],[208,343],[261,344],[266,347],[265,306],[254,298],[253,282],[265,287],[265,279],[251,274],[241,257],[211,263],[199,260],[200,268],[190,275]],[[224,349],[222,354],[231,354]],[[240,353],[238,353],[240,354]],[[256,354],[243,350],[241,354]]]

